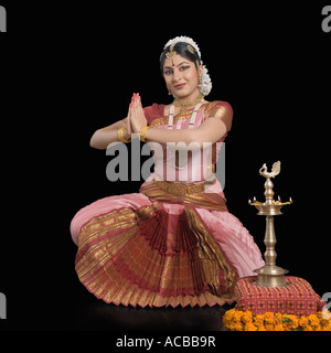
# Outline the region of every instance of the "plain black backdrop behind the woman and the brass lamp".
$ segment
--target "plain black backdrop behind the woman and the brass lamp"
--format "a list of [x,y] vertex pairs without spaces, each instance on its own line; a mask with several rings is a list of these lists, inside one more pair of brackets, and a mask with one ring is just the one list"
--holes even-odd
[[330,43],[327,2],[269,4],[169,2],[25,3],[8,11],[1,34],[2,203],[0,330],[71,330],[89,299],[74,270],[70,223],[83,206],[138,192],[110,182],[92,133],[126,116],[132,93],[143,106],[171,101],[159,72],[169,39],[197,42],[213,89],[234,109],[226,139],[225,195],[231,213],[264,253],[263,163],[281,161],[275,217],[277,264],[322,296],[331,291]]

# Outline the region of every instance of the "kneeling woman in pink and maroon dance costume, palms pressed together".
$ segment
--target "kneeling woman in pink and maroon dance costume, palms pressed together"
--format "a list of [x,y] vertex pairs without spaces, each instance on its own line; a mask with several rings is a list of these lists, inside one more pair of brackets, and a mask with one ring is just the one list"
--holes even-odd
[[[204,100],[212,84],[193,40],[169,41],[160,64],[173,104],[142,108],[134,94],[127,118],[92,137],[92,147],[106,149],[139,133],[154,151],[154,172],[139,193],[102,199],[75,215],[76,271],[108,303],[232,303],[236,279],[264,266],[253,237],[227,212],[213,173],[233,111],[225,101]],[[179,142],[181,151],[193,146],[189,157],[180,158]],[[195,153],[205,146],[213,147],[206,153],[212,159]]]

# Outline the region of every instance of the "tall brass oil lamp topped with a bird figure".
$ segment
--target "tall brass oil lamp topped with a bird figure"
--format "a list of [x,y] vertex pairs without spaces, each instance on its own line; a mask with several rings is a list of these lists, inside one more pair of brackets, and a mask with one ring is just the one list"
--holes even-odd
[[278,201],[274,200],[274,184],[271,178],[275,178],[280,172],[280,162],[275,162],[273,164],[271,172],[268,172],[266,163],[260,168],[259,174],[266,178],[265,182],[265,196],[266,201],[264,203],[253,199],[253,202],[248,200],[249,205],[254,205],[258,210],[258,215],[266,216],[266,233],[265,233],[265,266],[254,271],[258,275],[257,280],[254,282],[255,286],[259,287],[286,287],[288,282],[285,280],[285,274],[288,274],[287,269],[276,266],[277,254],[275,252],[276,245],[276,234],[274,227],[274,216],[280,215],[280,208],[284,205],[291,204],[292,200],[289,199],[288,202],[281,202],[278,196]]

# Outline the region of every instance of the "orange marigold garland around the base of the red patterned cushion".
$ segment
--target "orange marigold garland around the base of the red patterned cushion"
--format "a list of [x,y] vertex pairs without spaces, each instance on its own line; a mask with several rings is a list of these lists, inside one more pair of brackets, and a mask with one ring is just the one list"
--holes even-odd
[[266,312],[254,315],[249,310],[227,310],[224,325],[232,331],[331,331],[329,310],[311,313],[308,317]]

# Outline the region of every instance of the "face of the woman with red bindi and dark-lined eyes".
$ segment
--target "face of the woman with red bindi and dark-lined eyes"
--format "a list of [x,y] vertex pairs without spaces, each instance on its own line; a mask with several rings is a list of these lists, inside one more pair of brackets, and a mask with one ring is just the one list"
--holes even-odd
[[171,58],[166,58],[163,66],[163,77],[168,90],[175,98],[188,100],[194,99],[199,95],[197,85],[202,66],[196,71],[195,63],[177,54]]

